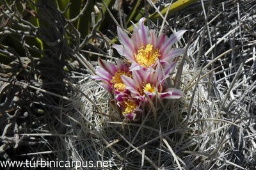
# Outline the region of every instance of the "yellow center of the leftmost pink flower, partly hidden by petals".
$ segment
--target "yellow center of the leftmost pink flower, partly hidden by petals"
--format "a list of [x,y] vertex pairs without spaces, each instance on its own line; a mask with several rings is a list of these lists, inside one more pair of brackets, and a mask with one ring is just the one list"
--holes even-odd
[[114,88],[117,89],[118,91],[124,91],[124,89],[126,87],[124,82],[122,81],[121,75],[127,75],[129,77],[132,76],[131,73],[123,72],[121,70],[118,70],[115,73],[114,77],[112,78],[112,80],[110,82],[113,83]]

